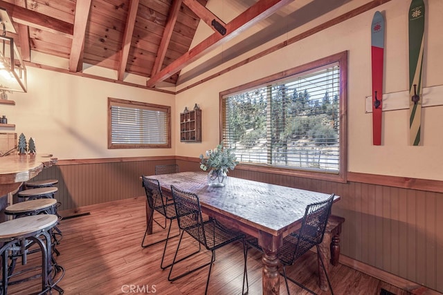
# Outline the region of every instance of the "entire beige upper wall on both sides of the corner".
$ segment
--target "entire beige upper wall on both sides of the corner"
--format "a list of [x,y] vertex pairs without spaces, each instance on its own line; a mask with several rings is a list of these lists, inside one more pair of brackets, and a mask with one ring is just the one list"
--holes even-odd
[[[367,2],[367,1],[366,1]],[[443,84],[443,59],[440,57],[443,38],[443,1],[428,0],[426,10],[426,46],[424,52],[424,86]],[[211,5],[215,5],[217,2]],[[351,1],[355,8],[365,3]],[[346,8],[346,6],[345,6]],[[215,9],[215,7],[213,8]],[[237,7],[224,7],[224,14]],[[325,17],[341,15],[344,8],[329,12]],[[406,91],[408,88],[407,10],[404,0],[392,0],[379,6],[386,15],[385,93]],[[375,10],[302,39],[275,53],[266,55],[216,79],[174,95],[147,91],[88,79],[74,75],[28,67],[28,93],[10,94],[15,106],[1,106],[15,130],[1,128],[0,132],[15,131],[33,137],[37,152],[52,153],[59,159],[114,158],[144,155],[183,155],[197,157],[219,141],[219,92],[246,82],[278,73],[309,61],[349,51],[349,171],[395,175],[408,178],[443,180],[443,137],[440,135],[443,106],[424,108],[422,116],[423,146],[408,145],[408,111],[383,113],[383,146],[371,144],[372,116],[365,113],[365,96],[371,92],[370,22]],[[224,19],[229,19],[224,15]],[[257,48],[255,53],[272,44],[297,35],[322,23],[316,19],[300,26],[275,41]],[[251,31],[254,31],[251,29]],[[204,30],[204,35],[210,32]],[[199,37],[197,36],[197,39]],[[202,39],[202,37],[200,37]],[[235,41],[235,39],[233,40]],[[237,40],[238,41],[238,40]],[[226,46],[229,46],[227,44]],[[224,47],[226,48],[226,47]],[[237,60],[230,62],[233,64]],[[215,71],[221,70],[219,66]],[[183,88],[201,77],[182,84]],[[107,97],[134,99],[142,102],[172,106],[172,149],[107,149]],[[407,99],[407,98],[405,98]],[[202,109],[203,141],[201,144],[179,142],[177,117],[185,106],[198,103]],[[31,123],[31,124],[29,124]],[[177,151],[177,152],[176,152]]]

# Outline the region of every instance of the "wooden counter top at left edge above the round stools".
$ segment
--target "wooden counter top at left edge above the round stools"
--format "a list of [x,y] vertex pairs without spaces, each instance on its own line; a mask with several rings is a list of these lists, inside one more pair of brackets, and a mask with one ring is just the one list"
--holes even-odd
[[34,178],[44,167],[52,166],[52,155],[7,155],[0,157],[0,196],[18,189],[22,182]]

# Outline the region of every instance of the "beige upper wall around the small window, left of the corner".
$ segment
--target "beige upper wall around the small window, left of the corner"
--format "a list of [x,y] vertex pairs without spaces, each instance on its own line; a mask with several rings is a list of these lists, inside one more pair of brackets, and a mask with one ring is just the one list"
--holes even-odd
[[[78,77],[28,67],[28,93],[9,94],[15,106],[1,106],[1,114],[15,129],[33,137],[37,153],[51,153],[59,160],[174,155],[172,149],[107,149],[107,98],[172,106],[174,95],[143,88]],[[172,126],[176,116],[172,115]]]

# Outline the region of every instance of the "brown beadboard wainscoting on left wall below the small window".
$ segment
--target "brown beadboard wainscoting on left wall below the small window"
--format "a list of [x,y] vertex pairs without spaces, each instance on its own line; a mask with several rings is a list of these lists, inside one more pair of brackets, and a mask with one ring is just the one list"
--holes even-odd
[[[172,158],[172,160],[170,160]],[[174,164],[174,157],[59,161],[33,180],[57,179],[59,211],[75,215],[81,207],[143,196],[141,175],[154,175],[158,164]]]

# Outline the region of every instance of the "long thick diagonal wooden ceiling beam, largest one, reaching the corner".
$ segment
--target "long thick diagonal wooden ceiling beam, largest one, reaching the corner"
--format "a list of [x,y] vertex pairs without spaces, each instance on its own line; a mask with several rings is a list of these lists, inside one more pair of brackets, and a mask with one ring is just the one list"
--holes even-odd
[[146,83],[148,87],[154,87],[157,83],[164,81],[168,77],[174,75],[179,70],[188,66],[202,57],[216,46],[226,43],[240,32],[250,28],[255,23],[266,19],[275,11],[279,10],[293,0],[259,0],[253,6],[245,10],[241,15],[235,17],[230,23],[226,24],[226,35],[222,36],[215,32],[210,37],[204,39],[187,53],[173,61],[169,66],[163,68],[158,74],[154,75]]

